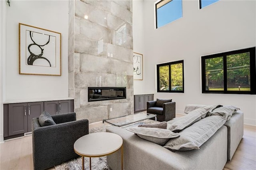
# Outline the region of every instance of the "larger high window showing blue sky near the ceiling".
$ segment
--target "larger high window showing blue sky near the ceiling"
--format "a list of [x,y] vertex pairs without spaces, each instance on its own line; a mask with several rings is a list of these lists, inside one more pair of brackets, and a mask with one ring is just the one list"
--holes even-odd
[[158,0],[155,2],[155,28],[182,17],[182,0]]

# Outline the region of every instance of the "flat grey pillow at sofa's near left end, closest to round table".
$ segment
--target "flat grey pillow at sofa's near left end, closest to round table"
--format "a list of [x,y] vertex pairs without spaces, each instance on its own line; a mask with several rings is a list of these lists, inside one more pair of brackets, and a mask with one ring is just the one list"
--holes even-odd
[[164,146],[170,138],[180,136],[178,133],[162,128],[130,127],[127,128],[127,130],[134,132],[134,134],[137,134],[142,139],[154,142],[161,146]]

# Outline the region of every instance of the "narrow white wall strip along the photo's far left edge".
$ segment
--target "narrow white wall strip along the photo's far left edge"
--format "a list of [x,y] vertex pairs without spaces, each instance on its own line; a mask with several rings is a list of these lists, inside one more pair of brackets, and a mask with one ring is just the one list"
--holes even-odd
[[4,79],[4,56],[6,52],[6,30],[5,30],[5,20],[6,19],[6,3],[5,1],[0,1],[0,142],[4,141],[3,136],[3,79]]

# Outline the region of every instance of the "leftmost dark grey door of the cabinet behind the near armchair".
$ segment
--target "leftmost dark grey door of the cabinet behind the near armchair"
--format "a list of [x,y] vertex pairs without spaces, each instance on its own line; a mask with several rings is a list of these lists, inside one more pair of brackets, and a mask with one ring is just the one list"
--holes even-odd
[[27,103],[8,105],[9,136],[28,132]]

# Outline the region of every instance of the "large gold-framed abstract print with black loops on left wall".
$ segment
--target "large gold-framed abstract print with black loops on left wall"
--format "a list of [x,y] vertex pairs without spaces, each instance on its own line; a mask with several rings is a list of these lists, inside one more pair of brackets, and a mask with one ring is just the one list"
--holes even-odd
[[61,75],[61,33],[19,23],[19,74]]

